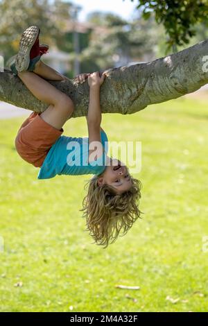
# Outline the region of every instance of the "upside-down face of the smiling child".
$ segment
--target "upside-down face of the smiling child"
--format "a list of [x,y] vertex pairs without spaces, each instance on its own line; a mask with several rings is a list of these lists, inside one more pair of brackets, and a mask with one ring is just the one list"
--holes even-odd
[[108,157],[110,164],[106,166],[102,177],[98,178],[98,185],[107,183],[114,187],[117,194],[122,194],[132,186],[132,180],[128,173],[128,168],[123,162]]

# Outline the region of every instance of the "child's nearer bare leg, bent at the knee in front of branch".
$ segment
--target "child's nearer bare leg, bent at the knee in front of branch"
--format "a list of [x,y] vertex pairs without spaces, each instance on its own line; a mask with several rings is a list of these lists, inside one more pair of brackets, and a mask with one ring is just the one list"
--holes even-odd
[[33,72],[22,71],[18,76],[35,97],[49,104],[40,117],[60,130],[73,113],[71,98]]

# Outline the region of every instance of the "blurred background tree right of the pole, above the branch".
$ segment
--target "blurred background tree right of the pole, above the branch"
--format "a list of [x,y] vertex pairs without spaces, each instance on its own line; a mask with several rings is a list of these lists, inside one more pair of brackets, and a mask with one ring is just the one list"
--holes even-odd
[[110,13],[92,12],[87,21],[96,28],[80,55],[82,71],[105,70],[155,58],[161,26],[153,17],[148,22],[143,18],[128,22]]

